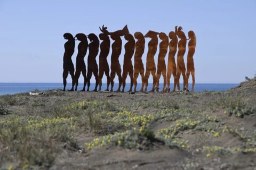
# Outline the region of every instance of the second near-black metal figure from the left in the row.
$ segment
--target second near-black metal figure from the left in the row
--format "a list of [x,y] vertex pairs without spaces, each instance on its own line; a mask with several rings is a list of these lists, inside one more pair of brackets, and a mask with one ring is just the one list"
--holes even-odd
[[[82,91],[85,91],[85,86],[87,83],[87,77],[86,77],[86,66],[84,63],[84,57],[87,53],[87,48],[88,48],[88,41],[86,36],[83,33],[77,33],[75,40],[81,41],[81,43],[78,44],[78,53],[76,57],[76,74],[75,74],[75,79],[76,79],[76,91],[77,91],[77,86],[78,86],[78,79],[80,77],[80,74],[82,72],[83,77],[84,77],[84,87]],[[73,89],[73,87],[72,87]]]

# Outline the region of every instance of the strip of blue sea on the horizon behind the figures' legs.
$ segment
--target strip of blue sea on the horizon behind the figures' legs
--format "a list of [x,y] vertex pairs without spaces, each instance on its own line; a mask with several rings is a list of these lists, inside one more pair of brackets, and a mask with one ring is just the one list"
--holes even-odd
[[[152,83],[148,84],[148,90],[152,89]],[[214,83],[196,83],[195,91],[226,91],[230,88],[236,87],[238,84],[214,84]],[[102,83],[101,90],[105,90],[107,87],[106,83]],[[180,84],[182,89],[183,84]],[[67,83],[66,89],[71,88],[71,83]],[[83,88],[83,83],[79,83],[78,90]],[[87,88],[87,87],[86,87]],[[95,88],[95,83],[91,83],[90,90]],[[118,88],[118,83],[114,84],[114,90]],[[141,88],[141,83],[137,84],[137,91]],[[159,90],[162,90],[163,83],[159,84]],[[63,89],[62,83],[0,83],[0,95],[12,95],[19,92],[29,92],[34,90],[51,90],[51,89]],[[109,88],[110,89],[110,88]],[[122,88],[121,88],[122,89]],[[130,89],[130,83],[126,83],[125,90]],[[133,86],[134,89],[134,86]],[[173,89],[173,84],[171,84],[171,90]],[[191,84],[189,84],[189,90],[191,89]]]

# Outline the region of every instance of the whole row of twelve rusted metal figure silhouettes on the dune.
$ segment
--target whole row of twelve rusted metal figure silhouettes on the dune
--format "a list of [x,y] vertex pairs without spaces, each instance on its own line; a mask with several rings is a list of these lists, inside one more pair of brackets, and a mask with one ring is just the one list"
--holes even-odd
[[[129,33],[127,25],[122,30],[117,30],[115,32],[109,32],[107,27],[102,26],[100,28],[101,32],[99,38],[94,34],[90,33],[88,36],[85,36],[83,33],[78,33],[75,37],[73,37],[70,33],[65,33],[63,37],[68,41],[65,43],[65,53],[63,56],[63,91],[66,90],[67,85],[67,77],[68,73],[71,75],[72,78],[72,88],[69,91],[77,91],[78,86],[78,79],[79,76],[82,75],[84,77],[84,86],[82,91],[85,91],[85,87],[87,84],[87,91],[89,91],[90,87],[90,80],[92,74],[95,77],[95,89],[97,91],[99,85],[99,91],[101,91],[102,86],[102,77],[105,73],[107,77],[107,89],[105,91],[109,91],[109,85],[111,84],[110,91],[113,91],[114,87],[114,78],[117,74],[119,86],[117,92],[121,91],[121,86],[123,85],[122,92],[124,92],[125,88],[125,80],[127,75],[131,79],[131,86],[129,92],[132,91],[132,87],[134,84],[134,92],[137,91],[137,79],[139,73],[141,75],[142,87],[140,89],[141,92],[147,91],[148,87],[148,79],[151,75],[153,76],[153,88],[151,92],[158,91],[159,89],[159,79],[161,74],[163,75],[164,79],[164,86],[162,92],[170,92],[170,79],[171,75],[173,75],[174,79],[174,87],[173,92],[175,91],[176,87],[180,90],[180,75],[182,74],[183,77],[183,90],[188,89],[188,79],[189,75],[191,74],[193,83],[191,91],[194,92],[195,87],[195,67],[194,67],[194,60],[193,56],[195,54],[196,48],[196,36],[193,31],[188,32],[189,39],[186,38],[185,33],[182,31],[182,27],[175,27],[175,32],[171,31],[169,36],[167,36],[164,32],[155,32],[155,31],[148,31],[145,36],[141,32],[135,32],[134,38]],[[112,53],[111,53],[111,73],[109,75],[109,65],[107,61],[107,57],[110,51],[110,39],[114,40],[114,43],[111,45]],[[123,74],[121,74],[122,69],[119,63],[119,56],[121,55],[122,51],[122,39],[121,36],[124,36],[127,43],[125,44],[125,54],[124,54],[124,65],[123,65]],[[161,43],[159,44],[159,54],[158,54],[158,61],[157,61],[157,71],[154,56],[157,52],[158,46],[158,37],[161,39]],[[178,43],[178,38],[179,43]],[[88,44],[87,38],[90,40],[90,44]],[[147,63],[146,63],[146,72],[144,75],[144,65],[142,62],[142,55],[145,50],[145,38],[150,38],[151,40],[148,43],[148,53],[147,53]],[[169,43],[169,38],[171,39]],[[100,44],[100,40],[102,40]],[[81,41],[78,45],[78,54],[76,57],[76,72],[74,69],[74,64],[71,60],[71,56],[74,54],[75,51],[75,40]],[[184,62],[184,55],[186,52],[186,45],[187,40],[188,43],[188,56],[187,56],[187,73],[186,73],[186,66]],[[178,54],[177,54],[177,65],[175,63],[175,54],[177,52],[177,45],[178,45]],[[84,57],[87,53],[87,48],[89,47],[89,55],[87,58],[88,64],[88,72],[86,75],[86,65],[84,62]],[[169,55],[168,55],[168,63],[167,63],[167,70],[165,64],[165,56],[167,54],[167,50],[169,47]],[[96,61],[96,57],[99,53],[100,48],[100,55],[99,55],[99,69],[98,64]],[[134,54],[134,67],[132,65],[132,56]],[[167,84],[167,88],[166,88]],[[145,90],[144,89],[145,86]]]

